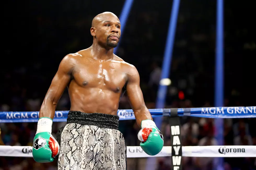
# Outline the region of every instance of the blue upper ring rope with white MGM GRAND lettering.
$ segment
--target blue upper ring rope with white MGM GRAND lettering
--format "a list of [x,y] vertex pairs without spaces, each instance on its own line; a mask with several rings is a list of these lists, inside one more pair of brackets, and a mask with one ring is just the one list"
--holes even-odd
[[[168,116],[171,109],[149,109],[152,117]],[[39,111],[34,112],[0,112],[0,123],[37,122]],[[55,111],[54,122],[66,122],[68,111]],[[135,119],[132,109],[118,110],[119,120]],[[211,107],[179,108],[178,116],[205,118],[255,118],[256,106],[247,107]]]

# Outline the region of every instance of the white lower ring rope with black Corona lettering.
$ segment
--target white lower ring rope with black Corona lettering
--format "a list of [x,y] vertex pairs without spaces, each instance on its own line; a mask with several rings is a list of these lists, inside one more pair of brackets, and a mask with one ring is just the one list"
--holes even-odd
[[[174,149],[175,150],[175,149]],[[155,155],[147,155],[140,146],[127,146],[127,158],[171,156],[172,147],[164,146]],[[0,146],[0,156],[32,157],[32,146]],[[256,157],[256,146],[183,146],[184,157]],[[173,156],[178,159],[178,156]]]

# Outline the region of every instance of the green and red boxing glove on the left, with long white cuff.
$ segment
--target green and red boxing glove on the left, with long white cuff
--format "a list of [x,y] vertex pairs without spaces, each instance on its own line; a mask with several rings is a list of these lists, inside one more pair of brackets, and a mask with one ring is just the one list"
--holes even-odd
[[60,152],[60,145],[51,135],[53,120],[49,117],[39,118],[34,137],[32,155],[36,162],[52,162]]

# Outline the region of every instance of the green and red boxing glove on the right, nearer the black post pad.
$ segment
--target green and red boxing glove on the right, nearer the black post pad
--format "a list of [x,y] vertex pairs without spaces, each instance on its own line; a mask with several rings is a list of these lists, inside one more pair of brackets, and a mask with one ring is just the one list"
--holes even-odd
[[164,146],[164,137],[156,127],[155,122],[150,119],[141,122],[141,130],[138,133],[140,146],[148,155],[156,155],[161,152]]

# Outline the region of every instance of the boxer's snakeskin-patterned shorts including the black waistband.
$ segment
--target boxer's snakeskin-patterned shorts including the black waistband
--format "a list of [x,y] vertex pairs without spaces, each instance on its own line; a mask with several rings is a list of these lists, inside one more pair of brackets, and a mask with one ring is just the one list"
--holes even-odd
[[57,133],[57,169],[125,170],[126,143],[118,122],[117,115],[69,111]]

